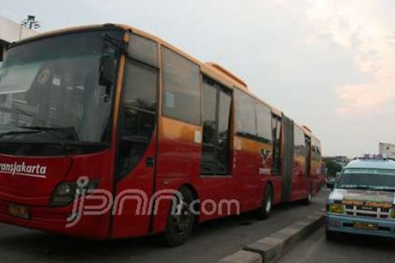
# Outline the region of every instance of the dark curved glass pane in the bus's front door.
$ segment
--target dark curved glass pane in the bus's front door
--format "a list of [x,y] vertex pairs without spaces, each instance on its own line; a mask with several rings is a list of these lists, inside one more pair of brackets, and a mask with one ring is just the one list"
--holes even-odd
[[146,151],[155,128],[157,69],[128,61],[119,125],[119,174],[125,176]]

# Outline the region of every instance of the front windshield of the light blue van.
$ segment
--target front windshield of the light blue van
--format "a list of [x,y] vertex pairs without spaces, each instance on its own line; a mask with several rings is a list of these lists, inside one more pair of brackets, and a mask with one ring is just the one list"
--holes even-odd
[[394,170],[346,169],[337,188],[395,191]]

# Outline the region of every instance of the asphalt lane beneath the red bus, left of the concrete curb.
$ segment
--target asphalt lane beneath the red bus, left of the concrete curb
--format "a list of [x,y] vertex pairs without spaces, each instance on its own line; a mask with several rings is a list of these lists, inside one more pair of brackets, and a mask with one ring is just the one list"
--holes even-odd
[[328,190],[323,190],[310,206],[278,206],[266,221],[256,220],[251,213],[209,221],[177,248],[161,246],[157,237],[93,242],[0,224],[0,262],[216,262],[245,244],[321,211],[327,196]]

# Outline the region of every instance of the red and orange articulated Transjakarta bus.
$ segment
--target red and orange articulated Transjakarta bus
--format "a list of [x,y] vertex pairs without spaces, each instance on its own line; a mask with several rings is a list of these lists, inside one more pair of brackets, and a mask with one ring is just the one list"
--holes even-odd
[[[308,203],[321,170],[319,140],[243,80],[123,25],[12,44],[0,125],[0,221],[73,237],[177,246],[196,223]],[[103,210],[75,210],[82,192]]]

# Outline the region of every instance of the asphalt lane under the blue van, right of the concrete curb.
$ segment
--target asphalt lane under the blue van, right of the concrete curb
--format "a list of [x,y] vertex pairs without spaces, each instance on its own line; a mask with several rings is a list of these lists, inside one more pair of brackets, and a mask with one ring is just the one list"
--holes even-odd
[[327,242],[322,227],[277,263],[394,263],[394,248],[393,240],[365,236],[342,236]]

